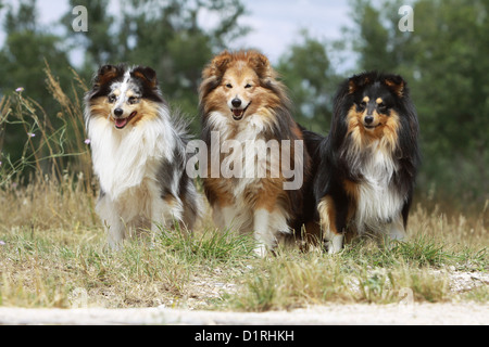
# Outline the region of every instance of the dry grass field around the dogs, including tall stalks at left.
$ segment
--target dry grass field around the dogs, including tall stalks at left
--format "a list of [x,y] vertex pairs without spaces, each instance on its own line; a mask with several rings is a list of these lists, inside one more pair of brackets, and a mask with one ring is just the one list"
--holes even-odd
[[[405,297],[489,299],[488,204],[473,216],[417,205],[410,241],[386,248],[358,240],[335,256],[284,247],[256,258],[252,237],[217,232],[209,214],[190,237],[163,230],[151,244],[142,237],[111,252],[93,211],[79,100],[67,98],[52,76],[49,83],[63,110],[61,129],[43,123],[40,106],[22,95],[0,102],[2,123],[24,121],[26,133],[41,138],[27,142],[22,160],[3,157],[0,166],[0,306],[263,311]],[[36,169],[30,179],[17,175],[25,166]],[[455,285],[462,273],[478,280]]]

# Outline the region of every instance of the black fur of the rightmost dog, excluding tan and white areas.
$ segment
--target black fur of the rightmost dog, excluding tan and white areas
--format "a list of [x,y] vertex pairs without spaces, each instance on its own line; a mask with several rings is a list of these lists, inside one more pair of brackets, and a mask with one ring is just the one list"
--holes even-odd
[[[402,218],[404,228],[411,207],[415,177],[421,163],[418,149],[418,121],[414,104],[411,101],[406,82],[400,76],[377,72],[355,75],[347,79],[338,89],[334,101],[334,116],[330,132],[321,142],[317,134],[304,132],[309,146],[315,147],[317,158],[313,195],[315,201],[315,221],[321,216],[317,205],[325,196],[335,204],[336,230],[344,232],[351,204],[354,203],[344,189],[344,182],[361,184],[364,181],[361,168],[371,155],[369,151],[352,152],[352,137],[348,133],[347,115],[353,105],[359,105],[365,91],[381,95],[388,107],[399,115],[397,147],[390,153],[397,170],[389,187],[394,187],[403,197]],[[393,216],[392,216],[393,217]]]

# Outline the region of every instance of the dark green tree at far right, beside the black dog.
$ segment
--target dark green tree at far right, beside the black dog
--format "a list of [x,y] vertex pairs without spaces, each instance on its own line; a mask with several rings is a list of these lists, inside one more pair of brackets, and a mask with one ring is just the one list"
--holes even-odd
[[[489,3],[419,1],[413,95],[424,120],[427,175],[466,200],[489,196]],[[416,42],[418,41],[418,42]]]

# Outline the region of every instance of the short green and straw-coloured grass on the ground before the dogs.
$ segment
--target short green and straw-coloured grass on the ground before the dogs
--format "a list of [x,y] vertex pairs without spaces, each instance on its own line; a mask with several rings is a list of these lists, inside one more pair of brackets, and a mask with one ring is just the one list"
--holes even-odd
[[[423,232],[425,227],[417,223],[425,215],[421,207],[412,218],[417,233],[409,241],[386,247],[374,240],[356,240],[335,256],[318,248],[304,253],[284,246],[274,256],[256,258],[250,235],[218,232],[209,216],[193,235],[161,230],[155,237],[136,237],[113,252],[105,246],[103,228],[91,218],[95,196],[67,193],[66,185],[76,187],[51,183],[47,191],[39,183],[29,197],[21,188],[17,194],[0,192],[4,201],[21,196],[24,205],[17,210],[22,219],[8,217],[17,206],[13,201],[0,214],[0,305],[67,308],[78,305],[79,293],[88,307],[165,305],[243,311],[327,303],[392,304],[406,290],[416,301],[489,298],[487,286],[452,291],[447,271],[487,273],[486,230],[477,230],[463,244],[457,234]],[[58,213],[66,217],[52,217],[48,224],[36,216],[60,202],[64,207]],[[77,211],[80,208],[85,215]],[[78,220],[70,217],[80,215]],[[444,231],[452,227],[444,221]]]

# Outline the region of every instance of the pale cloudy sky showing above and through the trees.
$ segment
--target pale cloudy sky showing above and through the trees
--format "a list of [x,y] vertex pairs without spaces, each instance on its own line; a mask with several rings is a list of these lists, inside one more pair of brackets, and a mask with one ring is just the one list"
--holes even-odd
[[[114,14],[117,13],[118,2],[111,0]],[[229,42],[229,49],[253,47],[266,54],[272,63],[277,63],[287,48],[299,41],[299,33],[303,28],[306,28],[313,38],[334,40],[341,37],[343,26],[351,24],[348,1],[243,0],[243,3],[248,13],[239,23],[251,27],[251,31],[246,37]],[[39,21],[47,27],[70,11],[67,0],[38,0],[37,7]],[[89,21],[88,14],[88,25]],[[211,14],[204,14],[200,18],[203,26],[212,26],[214,21],[216,18]],[[4,35],[0,34],[0,40],[3,39]],[[76,52],[72,54],[72,60],[75,64],[78,63]]]

